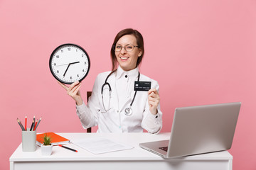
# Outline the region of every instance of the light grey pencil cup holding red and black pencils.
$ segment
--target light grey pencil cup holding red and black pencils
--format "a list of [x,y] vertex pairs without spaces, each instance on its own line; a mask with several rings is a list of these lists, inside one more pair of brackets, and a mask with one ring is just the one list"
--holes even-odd
[[36,130],[22,131],[22,151],[23,152],[36,151]]

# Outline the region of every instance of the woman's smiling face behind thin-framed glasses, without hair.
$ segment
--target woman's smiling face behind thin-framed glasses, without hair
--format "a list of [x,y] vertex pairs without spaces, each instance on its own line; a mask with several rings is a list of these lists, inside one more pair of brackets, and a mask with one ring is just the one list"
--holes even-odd
[[137,46],[137,39],[134,35],[124,35],[117,41],[116,46],[121,46],[122,50],[119,52],[114,52],[117,57],[117,62],[119,66],[124,71],[129,71],[137,67],[137,60],[140,55],[142,55],[142,50],[139,47],[134,47],[131,52],[127,52],[124,47],[127,45]]

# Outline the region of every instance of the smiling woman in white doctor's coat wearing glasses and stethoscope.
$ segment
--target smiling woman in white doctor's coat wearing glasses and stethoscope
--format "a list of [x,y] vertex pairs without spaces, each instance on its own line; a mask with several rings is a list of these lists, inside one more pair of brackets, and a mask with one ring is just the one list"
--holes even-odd
[[[130,28],[121,30],[114,38],[110,54],[112,72],[98,74],[87,106],[79,91],[81,82],[69,87],[58,82],[75,100],[82,126],[98,125],[97,132],[159,132],[159,84],[140,74],[138,68],[144,56],[141,33]],[[150,81],[151,89],[134,91],[134,81]]]

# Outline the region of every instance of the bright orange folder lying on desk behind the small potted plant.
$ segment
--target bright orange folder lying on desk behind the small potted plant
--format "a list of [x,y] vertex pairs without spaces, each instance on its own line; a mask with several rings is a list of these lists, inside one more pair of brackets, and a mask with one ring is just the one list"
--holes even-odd
[[60,135],[55,134],[55,132],[46,132],[36,135],[36,145],[41,146],[43,144],[43,137],[44,135],[47,135],[51,137],[52,145],[63,145],[70,143],[70,140],[66,139],[65,137],[62,137]]

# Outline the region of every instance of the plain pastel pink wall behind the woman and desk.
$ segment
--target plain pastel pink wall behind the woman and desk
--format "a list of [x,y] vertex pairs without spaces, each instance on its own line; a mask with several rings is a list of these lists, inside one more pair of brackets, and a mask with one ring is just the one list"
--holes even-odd
[[[48,68],[55,47],[71,42],[87,50],[95,77],[110,70],[110,45],[124,28],[144,35],[141,72],[160,84],[163,129],[174,109],[241,101],[233,169],[255,169],[256,1],[0,1],[0,169],[21,143],[16,118],[38,132],[85,132],[75,103]],[[93,129],[95,131],[95,129]]]

